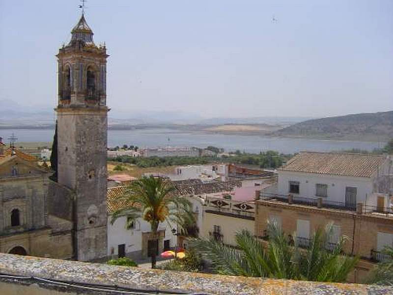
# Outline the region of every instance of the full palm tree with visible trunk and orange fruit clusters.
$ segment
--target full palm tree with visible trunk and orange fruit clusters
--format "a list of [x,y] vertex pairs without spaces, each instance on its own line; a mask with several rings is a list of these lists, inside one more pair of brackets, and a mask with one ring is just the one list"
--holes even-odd
[[126,216],[127,228],[137,218],[147,221],[151,227],[153,243],[151,243],[151,267],[156,266],[156,247],[158,245],[158,226],[167,221],[170,227],[177,225],[178,229],[186,232],[186,224],[194,219],[191,203],[174,192],[170,181],[161,177],[142,177],[132,182],[125,194],[119,198],[120,202],[128,204],[113,212],[111,223]]

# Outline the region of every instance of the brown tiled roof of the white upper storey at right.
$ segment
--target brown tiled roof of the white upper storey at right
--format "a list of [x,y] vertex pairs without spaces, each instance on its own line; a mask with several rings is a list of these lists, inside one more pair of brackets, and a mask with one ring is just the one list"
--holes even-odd
[[385,161],[383,155],[302,151],[279,170],[371,177]]

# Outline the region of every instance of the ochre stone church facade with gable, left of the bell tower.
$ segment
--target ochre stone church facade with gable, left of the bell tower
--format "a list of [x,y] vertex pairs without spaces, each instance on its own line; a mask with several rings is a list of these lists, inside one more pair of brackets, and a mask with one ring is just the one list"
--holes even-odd
[[52,214],[50,171],[23,153],[0,153],[0,252],[71,259],[72,222]]

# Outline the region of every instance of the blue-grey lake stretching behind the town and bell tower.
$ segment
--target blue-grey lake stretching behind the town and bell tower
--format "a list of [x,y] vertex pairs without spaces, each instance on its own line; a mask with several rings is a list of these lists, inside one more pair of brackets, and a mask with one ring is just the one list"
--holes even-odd
[[[15,133],[18,142],[51,142],[54,130],[50,129],[0,129],[0,136],[7,138]],[[225,151],[258,153],[268,149],[283,153],[300,150],[332,151],[351,148],[372,150],[382,148],[385,143],[362,141],[337,141],[298,138],[278,138],[257,135],[225,135],[203,132],[184,132],[173,129],[108,130],[108,146],[136,145],[144,147],[198,147],[215,146]]]

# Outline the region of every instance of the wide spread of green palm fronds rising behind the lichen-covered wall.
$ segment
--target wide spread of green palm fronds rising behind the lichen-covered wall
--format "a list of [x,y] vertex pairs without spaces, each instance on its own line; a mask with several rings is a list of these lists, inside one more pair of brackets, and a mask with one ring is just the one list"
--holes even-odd
[[266,248],[246,230],[236,234],[236,247],[212,239],[194,239],[191,245],[214,271],[227,275],[343,282],[358,262],[357,257],[341,254],[345,237],[333,249],[327,249],[332,225],[318,229],[307,249],[299,249],[296,238],[291,245],[276,223],[268,221],[268,229]]

